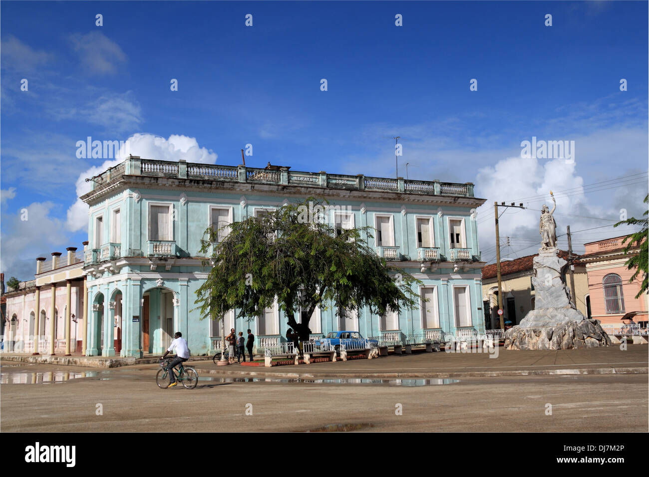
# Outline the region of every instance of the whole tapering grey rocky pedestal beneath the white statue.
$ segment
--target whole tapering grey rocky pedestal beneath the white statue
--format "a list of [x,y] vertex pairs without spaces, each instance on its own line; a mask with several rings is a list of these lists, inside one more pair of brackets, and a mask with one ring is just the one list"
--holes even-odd
[[585,319],[570,302],[561,280],[567,264],[557,249],[541,249],[534,257],[532,284],[535,309],[505,333],[505,349],[573,349],[611,346],[596,320]]

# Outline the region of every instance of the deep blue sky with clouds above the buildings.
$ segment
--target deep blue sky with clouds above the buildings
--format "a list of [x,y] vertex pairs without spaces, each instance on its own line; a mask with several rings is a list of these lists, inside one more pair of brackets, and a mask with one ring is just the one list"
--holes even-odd
[[[239,164],[251,143],[248,165],[391,177],[398,135],[399,175],[408,162],[410,178],[475,182],[489,200],[478,212],[485,260],[495,255],[495,200],[570,190],[557,196],[557,212],[570,214],[557,215],[559,231],[643,210],[646,2],[4,1],[0,10],[8,276],[29,279],[36,256],[85,239],[77,196],[104,165],[76,157],[87,136],[162,136],[162,145],[143,138],[143,151],[182,143],[195,147],[180,156],[217,164]],[[522,160],[532,136],[574,140],[574,164]],[[591,186],[602,181],[611,182]],[[537,220],[536,210],[502,219],[510,258],[535,252],[525,246]],[[573,243],[620,234],[598,228]]]

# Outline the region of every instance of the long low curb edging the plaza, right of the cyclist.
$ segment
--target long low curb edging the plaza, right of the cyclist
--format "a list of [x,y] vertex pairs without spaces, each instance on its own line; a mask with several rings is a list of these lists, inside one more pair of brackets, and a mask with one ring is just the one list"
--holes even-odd
[[488,378],[498,376],[556,376],[580,374],[648,374],[649,369],[643,367],[620,368],[572,368],[572,369],[521,369],[518,371],[465,371],[453,373],[345,373],[345,374],[313,374],[313,373],[270,373],[263,371],[221,371],[216,369],[197,369],[201,374],[216,374],[219,376],[236,376],[241,378]]

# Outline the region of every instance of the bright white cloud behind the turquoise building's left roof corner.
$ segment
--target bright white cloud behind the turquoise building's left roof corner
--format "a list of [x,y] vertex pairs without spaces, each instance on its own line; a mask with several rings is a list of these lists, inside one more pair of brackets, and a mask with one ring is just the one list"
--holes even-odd
[[[141,158],[174,161],[184,159],[199,164],[216,164],[217,154],[210,149],[200,147],[196,138],[171,134],[168,139],[154,134],[134,134],[125,141],[116,159],[106,160],[103,164],[90,167],[77,179],[77,197],[90,192],[90,182],[86,177],[93,177],[119,164],[132,154]],[[77,199],[67,210],[66,228],[72,232],[86,230],[88,227],[88,205]]]

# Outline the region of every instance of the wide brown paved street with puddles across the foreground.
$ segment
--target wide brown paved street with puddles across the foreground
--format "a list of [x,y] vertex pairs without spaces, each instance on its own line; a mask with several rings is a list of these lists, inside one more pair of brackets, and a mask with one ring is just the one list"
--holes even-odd
[[[637,350],[639,356],[644,354],[646,367],[646,348]],[[445,356],[452,355],[348,361],[336,363],[335,371],[353,381],[345,371],[361,370],[367,375],[378,368],[403,371],[406,365],[424,367],[417,361],[430,363],[431,356],[447,360]],[[517,356],[532,358],[524,352]],[[571,357],[579,359],[577,354]],[[641,359],[622,354],[618,361]],[[195,364],[201,381],[188,390],[158,389],[156,365],[98,369],[2,361],[2,430],[168,431],[173,419],[182,417],[189,431],[306,431],[332,429],[334,424],[342,424],[345,430],[373,431],[647,431],[647,374],[467,376],[452,384],[410,386],[405,384],[424,380],[403,380],[402,385],[394,380],[391,384],[265,382],[266,378],[232,382],[235,376],[209,374],[218,371],[213,363]],[[332,374],[333,366],[278,369],[303,372],[308,368],[321,378]],[[230,372],[234,368],[265,370],[227,367]],[[43,380],[61,381],[39,384]],[[547,404],[552,405],[552,415],[546,415]],[[98,408],[103,415],[97,415]],[[402,415],[395,413],[399,408]]]

